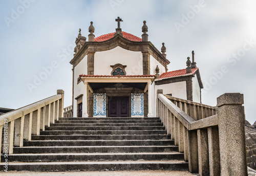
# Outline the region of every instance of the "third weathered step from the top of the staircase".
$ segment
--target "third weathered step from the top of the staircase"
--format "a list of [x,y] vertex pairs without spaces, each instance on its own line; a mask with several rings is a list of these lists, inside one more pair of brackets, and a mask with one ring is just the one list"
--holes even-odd
[[163,126],[163,123],[54,123],[51,126]]

